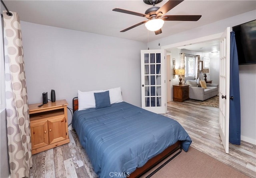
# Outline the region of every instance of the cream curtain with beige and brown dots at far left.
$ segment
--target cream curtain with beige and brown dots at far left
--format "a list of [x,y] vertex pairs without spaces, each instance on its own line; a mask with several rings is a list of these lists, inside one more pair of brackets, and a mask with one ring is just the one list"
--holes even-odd
[[29,177],[32,158],[20,19],[16,12],[3,17],[9,166],[12,178],[22,178]]

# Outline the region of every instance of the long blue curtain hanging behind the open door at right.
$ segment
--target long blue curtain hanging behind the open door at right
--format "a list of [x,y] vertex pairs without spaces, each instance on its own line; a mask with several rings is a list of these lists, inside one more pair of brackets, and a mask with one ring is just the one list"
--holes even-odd
[[229,142],[240,145],[241,112],[239,91],[238,55],[235,33],[230,32],[230,110],[229,110]]

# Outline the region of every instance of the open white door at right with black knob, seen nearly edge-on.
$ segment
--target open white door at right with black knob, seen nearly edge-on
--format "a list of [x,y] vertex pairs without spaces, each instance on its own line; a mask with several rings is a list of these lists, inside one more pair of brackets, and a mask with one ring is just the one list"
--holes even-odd
[[228,153],[229,145],[229,100],[230,100],[230,27],[220,38],[220,88],[219,88],[219,133]]

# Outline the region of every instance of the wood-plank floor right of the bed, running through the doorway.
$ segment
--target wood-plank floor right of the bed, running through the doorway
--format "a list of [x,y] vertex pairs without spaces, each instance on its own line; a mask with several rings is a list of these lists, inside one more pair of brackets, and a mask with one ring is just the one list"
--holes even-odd
[[244,141],[229,144],[226,154],[219,136],[219,109],[199,105],[200,101],[168,102],[164,114],[177,120],[190,135],[191,146],[250,177],[256,177],[256,146]]

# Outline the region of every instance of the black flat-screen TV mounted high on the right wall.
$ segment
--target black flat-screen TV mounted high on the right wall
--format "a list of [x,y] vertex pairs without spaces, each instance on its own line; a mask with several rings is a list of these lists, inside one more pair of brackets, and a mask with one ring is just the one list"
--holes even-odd
[[238,65],[256,64],[256,20],[232,27],[235,32]]

